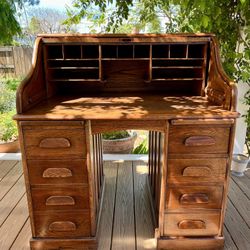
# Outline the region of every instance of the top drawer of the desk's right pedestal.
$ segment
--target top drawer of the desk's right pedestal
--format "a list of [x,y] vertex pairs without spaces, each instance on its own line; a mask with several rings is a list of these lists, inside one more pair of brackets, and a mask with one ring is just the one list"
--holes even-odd
[[226,154],[230,127],[170,126],[169,153]]

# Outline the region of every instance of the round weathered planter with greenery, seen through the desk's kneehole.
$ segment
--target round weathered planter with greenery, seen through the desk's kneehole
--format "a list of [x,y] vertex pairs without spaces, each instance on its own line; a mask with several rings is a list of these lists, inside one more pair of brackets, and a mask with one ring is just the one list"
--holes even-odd
[[127,130],[112,131],[102,134],[104,154],[129,154],[134,148],[137,133]]

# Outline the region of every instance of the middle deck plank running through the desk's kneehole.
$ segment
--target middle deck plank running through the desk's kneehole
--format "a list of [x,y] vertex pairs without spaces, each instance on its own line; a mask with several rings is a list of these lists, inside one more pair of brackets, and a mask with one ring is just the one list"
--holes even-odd
[[115,203],[113,250],[135,249],[132,162],[119,163]]

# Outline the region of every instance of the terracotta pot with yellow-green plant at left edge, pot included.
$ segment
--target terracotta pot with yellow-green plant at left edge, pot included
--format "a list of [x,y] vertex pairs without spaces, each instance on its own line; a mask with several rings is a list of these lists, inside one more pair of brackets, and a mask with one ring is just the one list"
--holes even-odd
[[19,151],[17,126],[12,116],[15,111],[0,114],[0,153],[15,153]]

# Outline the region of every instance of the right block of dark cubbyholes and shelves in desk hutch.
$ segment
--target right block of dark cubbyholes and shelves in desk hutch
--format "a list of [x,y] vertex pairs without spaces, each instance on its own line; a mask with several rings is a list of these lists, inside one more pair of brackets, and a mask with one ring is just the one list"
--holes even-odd
[[151,81],[203,81],[205,44],[152,46]]

